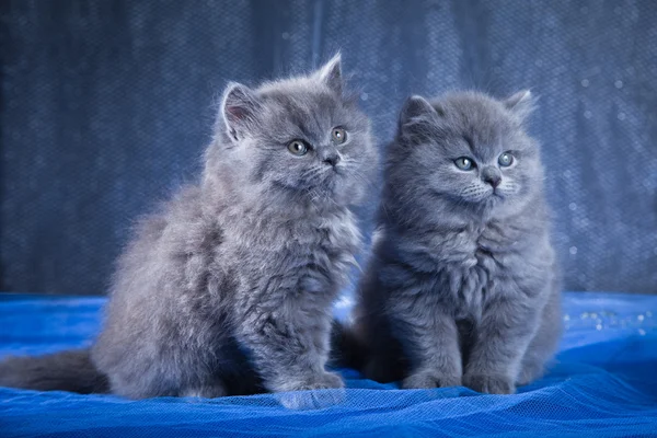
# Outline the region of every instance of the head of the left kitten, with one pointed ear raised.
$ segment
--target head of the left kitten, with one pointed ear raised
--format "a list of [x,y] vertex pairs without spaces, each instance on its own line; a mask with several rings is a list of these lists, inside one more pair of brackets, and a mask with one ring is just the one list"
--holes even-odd
[[307,77],[229,84],[217,130],[216,176],[281,208],[358,203],[377,166],[369,120],[344,91],[339,54]]

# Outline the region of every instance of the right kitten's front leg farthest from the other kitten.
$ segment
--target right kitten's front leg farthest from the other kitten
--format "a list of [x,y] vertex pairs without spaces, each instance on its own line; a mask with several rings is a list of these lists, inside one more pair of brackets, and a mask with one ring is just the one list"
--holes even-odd
[[538,306],[519,301],[500,297],[487,304],[465,366],[465,387],[491,394],[516,392],[521,360],[538,324]]

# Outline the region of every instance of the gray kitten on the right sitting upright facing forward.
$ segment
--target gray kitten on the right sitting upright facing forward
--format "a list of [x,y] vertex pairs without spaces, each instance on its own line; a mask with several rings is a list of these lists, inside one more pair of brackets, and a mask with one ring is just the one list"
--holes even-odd
[[529,91],[405,103],[354,325],[336,338],[367,378],[508,394],[543,372],[561,298],[531,107]]

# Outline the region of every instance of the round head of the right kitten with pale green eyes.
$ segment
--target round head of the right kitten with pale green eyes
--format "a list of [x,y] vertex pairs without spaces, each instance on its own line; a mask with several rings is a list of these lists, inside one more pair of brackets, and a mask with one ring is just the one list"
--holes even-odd
[[391,184],[412,185],[418,201],[439,198],[449,211],[504,217],[541,191],[538,145],[523,127],[533,99],[521,91],[498,101],[454,93],[410,97],[391,148]]

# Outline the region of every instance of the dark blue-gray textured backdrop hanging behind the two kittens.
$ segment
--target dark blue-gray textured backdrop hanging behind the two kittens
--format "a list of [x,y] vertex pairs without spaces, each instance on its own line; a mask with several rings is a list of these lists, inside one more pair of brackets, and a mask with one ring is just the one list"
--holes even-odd
[[336,49],[381,143],[410,93],[531,88],[565,287],[657,291],[652,0],[2,0],[0,289],[103,293],[226,82]]

